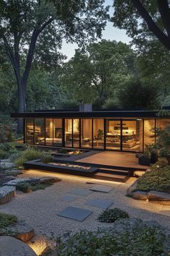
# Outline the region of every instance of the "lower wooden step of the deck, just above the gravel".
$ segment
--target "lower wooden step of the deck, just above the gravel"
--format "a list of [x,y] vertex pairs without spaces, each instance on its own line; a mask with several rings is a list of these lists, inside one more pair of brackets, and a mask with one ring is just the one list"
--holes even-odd
[[94,174],[93,178],[107,180],[110,182],[126,182],[129,176],[123,174],[107,174],[105,172],[99,171],[97,174]]

